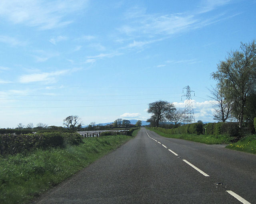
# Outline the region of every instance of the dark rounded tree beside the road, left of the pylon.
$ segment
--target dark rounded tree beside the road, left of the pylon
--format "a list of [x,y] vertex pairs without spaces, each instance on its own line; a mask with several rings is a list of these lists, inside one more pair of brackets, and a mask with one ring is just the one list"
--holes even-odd
[[148,113],[151,113],[153,117],[150,120],[155,122],[156,127],[159,126],[159,122],[164,122],[170,115],[173,114],[174,105],[167,101],[158,100],[148,104]]

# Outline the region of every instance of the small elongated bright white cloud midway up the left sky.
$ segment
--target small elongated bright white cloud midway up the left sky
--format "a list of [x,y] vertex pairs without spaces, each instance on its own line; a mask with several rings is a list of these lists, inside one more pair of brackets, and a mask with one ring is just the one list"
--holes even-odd
[[50,72],[50,73],[44,72],[39,74],[22,75],[19,81],[21,83],[38,82],[38,81],[54,82],[56,80],[55,77],[64,75],[69,71],[70,70],[62,70],[62,71],[56,71],[56,72]]

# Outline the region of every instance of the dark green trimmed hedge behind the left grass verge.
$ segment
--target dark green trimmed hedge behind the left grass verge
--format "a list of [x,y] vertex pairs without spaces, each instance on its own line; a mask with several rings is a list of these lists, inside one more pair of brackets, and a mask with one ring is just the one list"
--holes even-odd
[[78,133],[40,133],[28,135],[0,135],[1,155],[23,153],[34,149],[49,147],[66,147],[82,143],[82,136]]

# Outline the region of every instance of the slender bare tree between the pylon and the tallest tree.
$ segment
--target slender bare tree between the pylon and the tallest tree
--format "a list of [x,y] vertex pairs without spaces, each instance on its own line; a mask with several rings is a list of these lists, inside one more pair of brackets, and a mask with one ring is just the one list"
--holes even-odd
[[225,92],[223,85],[217,84],[216,88],[210,90],[212,96],[210,98],[214,100],[214,120],[225,122],[231,118],[231,102],[225,98]]

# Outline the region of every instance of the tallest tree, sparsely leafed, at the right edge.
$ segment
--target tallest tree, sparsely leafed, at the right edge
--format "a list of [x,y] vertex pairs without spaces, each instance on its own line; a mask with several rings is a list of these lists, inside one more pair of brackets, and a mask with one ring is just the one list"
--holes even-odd
[[218,71],[212,73],[231,100],[232,110],[236,110],[239,127],[244,122],[244,107],[256,82],[256,43],[241,43],[240,50],[231,51],[225,61],[218,64]]

